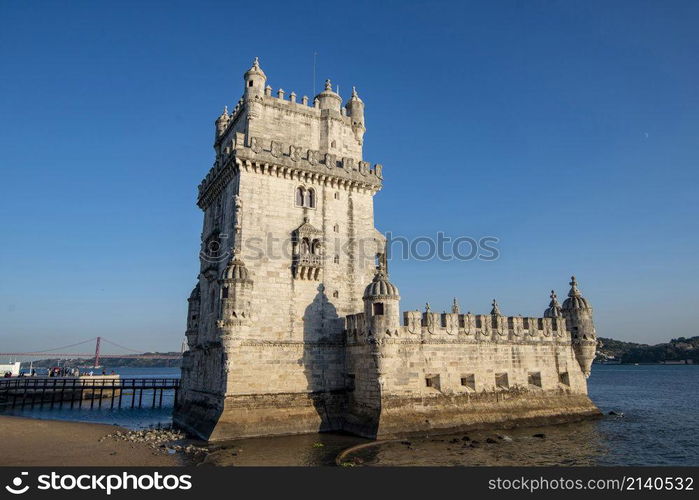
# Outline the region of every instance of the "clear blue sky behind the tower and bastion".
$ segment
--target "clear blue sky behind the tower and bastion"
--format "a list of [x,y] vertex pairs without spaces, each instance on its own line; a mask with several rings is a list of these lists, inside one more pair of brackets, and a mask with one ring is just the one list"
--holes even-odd
[[[697,2],[0,2],[0,352],[179,349],[213,122],[259,56],[366,104],[381,231],[495,236],[390,264],[402,308],[540,315],[572,273],[598,334],[696,328]],[[0,360],[1,361],[1,360]]]

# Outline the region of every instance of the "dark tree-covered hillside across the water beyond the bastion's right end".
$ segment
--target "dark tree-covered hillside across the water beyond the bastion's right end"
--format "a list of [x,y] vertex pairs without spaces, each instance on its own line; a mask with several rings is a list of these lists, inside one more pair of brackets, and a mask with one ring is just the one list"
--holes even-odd
[[656,345],[636,344],[600,337],[597,360],[610,357],[622,363],[661,363],[691,359],[699,364],[699,337],[679,337],[670,342]]

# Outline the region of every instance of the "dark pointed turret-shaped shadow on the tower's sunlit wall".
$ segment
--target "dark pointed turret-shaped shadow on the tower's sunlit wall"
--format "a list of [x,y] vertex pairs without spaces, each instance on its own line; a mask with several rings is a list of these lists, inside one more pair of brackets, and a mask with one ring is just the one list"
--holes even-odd
[[319,417],[318,432],[340,430],[345,406],[342,320],[318,285],[303,315],[303,371]]

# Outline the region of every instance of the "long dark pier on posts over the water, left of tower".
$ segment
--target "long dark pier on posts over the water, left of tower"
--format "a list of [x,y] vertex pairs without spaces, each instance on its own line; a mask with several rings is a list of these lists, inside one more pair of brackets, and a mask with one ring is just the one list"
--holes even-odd
[[[0,408],[160,408],[166,391],[180,387],[179,378],[17,377],[0,379]],[[83,404],[85,403],[85,404]]]

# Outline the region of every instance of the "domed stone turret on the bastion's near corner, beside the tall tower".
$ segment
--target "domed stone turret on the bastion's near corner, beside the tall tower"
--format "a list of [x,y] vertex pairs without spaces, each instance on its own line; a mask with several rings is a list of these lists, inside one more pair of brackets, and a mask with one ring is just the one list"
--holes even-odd
[[374,279],[364,290],[364,317],[374,338],[394,335],[400,328],[400,295],[388,280],[383,263],[376,268]]

